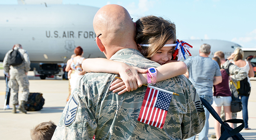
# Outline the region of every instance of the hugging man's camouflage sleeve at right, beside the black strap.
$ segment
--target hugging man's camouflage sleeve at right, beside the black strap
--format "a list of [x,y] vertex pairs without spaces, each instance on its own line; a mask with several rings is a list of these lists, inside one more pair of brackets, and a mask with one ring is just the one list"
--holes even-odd
[[186,98],[187,112],[182,119],[182,140],[190,138],[202,131],[205,123],[205,114],[202,102],[192,83],[184,78],[184,95]]

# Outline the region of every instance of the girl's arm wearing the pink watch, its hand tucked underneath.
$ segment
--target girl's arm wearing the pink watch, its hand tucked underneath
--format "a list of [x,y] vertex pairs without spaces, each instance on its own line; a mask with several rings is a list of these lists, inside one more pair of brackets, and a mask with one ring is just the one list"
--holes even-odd
[[[187,66],[184,62],[171,60],[168,61],[166,64],[159,66],[156,68],[157,70],[157,76],[156,76],[156,82],[166,80],[169,78],[172,78],[174,76],[182,75],[187,72]],[[143,84],[147,83],[147,75],[146,74],[139,74],[140,79],[142,80]],[[118,94],[123,94],[126,92],[124,82],[122,80],[116,80],[112,82],[110,85],[110,90],[113,90],[113,92],[118,92]]]

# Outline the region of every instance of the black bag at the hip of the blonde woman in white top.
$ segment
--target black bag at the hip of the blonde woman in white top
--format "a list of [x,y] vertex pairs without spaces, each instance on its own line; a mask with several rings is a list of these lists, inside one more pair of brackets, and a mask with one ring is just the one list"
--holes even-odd
[[250,83],[246,77],[244,80],[236,82],[238,95],[249,96],[251,92]]

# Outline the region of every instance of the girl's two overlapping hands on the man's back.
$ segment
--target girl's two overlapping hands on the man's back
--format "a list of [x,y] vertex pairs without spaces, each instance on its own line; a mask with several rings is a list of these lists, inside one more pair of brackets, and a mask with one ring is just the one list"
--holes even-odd
[[[142,81],[140,79],[140,76],[138,73],[146,73],[148,72],[147,69],[137,68],[137,67],[130,67],[128,65],[122,67],[121,70],[119,70],[120,77],[122,78],[122,81],[116,80],[114,81],[110,86],[110,90],[113,90],[113,92],[119,92],[118,94],[122,94],[126,91],[130,92],[133,90],[136,90],[138,87],[142,86]],[[124,90],[126,88],[126,90]]]

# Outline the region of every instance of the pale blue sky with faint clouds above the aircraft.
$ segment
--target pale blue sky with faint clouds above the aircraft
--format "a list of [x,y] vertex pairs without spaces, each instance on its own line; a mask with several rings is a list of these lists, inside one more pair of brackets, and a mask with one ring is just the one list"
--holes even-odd
[[[0,4],[18,4],[0,0]],[[147,15],[161,16],[176,24],[177,39],[218,39],[256,48],[256,0],[62,0],[101,8],[118,4],[134,22]]]

